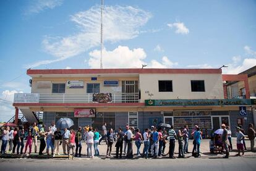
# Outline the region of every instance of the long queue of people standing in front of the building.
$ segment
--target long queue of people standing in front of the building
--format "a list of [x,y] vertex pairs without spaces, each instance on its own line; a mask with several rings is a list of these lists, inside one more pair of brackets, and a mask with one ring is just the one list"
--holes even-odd
[[[229,152],[232,151],[233,146],[231,143],[231,130],[229,127],[224,124],[221,125],[223,133],[220,135],[211,135],[210,140],[210,152],[220,151],[225,152],[224,158],[229,157]],[[83,129],[83,133],[82,133]],[[237,156],[244,155],[244,130],[242,130],[241,125],[236,127],[237,129]],[[34,143],[35,149],[34,152],[37,152],[37,140],[40,140],[39,154],[42,155],[46,148],[46,154],[52,155],[55,157],[59,154],[59,146],[62,144],[63,154],[67,154],[69,158],[71,157],[81,157],[82,156],[82,140],[86,141],[87,144],[87,156],[95,157],[100,156],[100,151],[98,145],[101,141],[105,140],[107,144],[106,157],[111,157],[113,144],[116,141],[116,158],[122,158],[122,152],[127,159],[134,157],[133,141],[135,141],[135,146],[137,147],[137,157],[148,157],[158,158],[161,156],[167,156],[169,158],[176,159],[174,156],[174,149],[176,146],[176,140],[178,142],[179,156],[178,158],[185,158],[186,154],[189,153],[189,136],[193,138],[193,150],[192,156],[200,157],[200,144],[202,140],[202,130],[195,125],[192,133],[189,135],[189,128],[187,125],[180,128],[177,133],[174,130],[173,125],[167,131],[165,128],[156,128],[151,126],[151,128],[146,128],[141,132],[138,128],[126,126],[126,129],[123,131],[122,128],[119,128],[115,133],[112,128],[108,131],[106,129],[106,123],[103,124],[102,133],[100,134],[96,128],[90,126],[79,127],[77,131],[64,128],[60,130],[56,128],[54,123],[50,127],[45,128],[45,125],[40,125],[38,127],[36,123],[28,128],[27,136],[25,137],[25,130],[22,125],[15,128],[5,127],[2,131],[2,146],[1,154],[5,154],[7,151],[7,143],[9,142],[9,151],[12,154],[26,154],[30,156],[32,153],[32,144]],[[102,135],[102,136],[101,136]],[[253,125],[250,124],[248,128],[248,137],[251,144],[251,151],[254,151],[254,138],[255,130]],[[27,138],[27,142],[24,148],[24,140]],[[164,153],[166,148],[166,143],[169,141],[169,151],[167,154]],[[143,150],[142,153],[140,148]],[[123,149],[124,145],[124,149]],[[28,153],[27,153],[28,150]],[[71,152],[70,152],[71,150]],[[241,154],[242,153],[242,154]]]

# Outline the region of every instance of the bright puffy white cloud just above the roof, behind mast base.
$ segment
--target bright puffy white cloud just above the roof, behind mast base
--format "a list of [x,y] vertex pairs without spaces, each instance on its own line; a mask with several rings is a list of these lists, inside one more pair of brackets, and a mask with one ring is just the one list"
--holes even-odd
[[[100,67],[100,51],[95,50],[89,53],[90,59],[88,65],[91,68]],[[145,59],[146,52],[142,48],[129,49],[127,46],[118,46],[113,51],[103,51],[103,68],[140,68],[142,64],[147,64]],[[151,60],[147,68],[171,68],[177,65],[177,62],[171,62],[168,57],[164,56],[161,62]]]

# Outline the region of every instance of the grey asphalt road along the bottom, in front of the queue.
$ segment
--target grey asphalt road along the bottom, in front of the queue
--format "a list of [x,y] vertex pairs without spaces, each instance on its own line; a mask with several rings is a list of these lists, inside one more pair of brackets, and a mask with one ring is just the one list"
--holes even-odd
[[0,170],[256,170],[256,157],[229,159],[0,159]]

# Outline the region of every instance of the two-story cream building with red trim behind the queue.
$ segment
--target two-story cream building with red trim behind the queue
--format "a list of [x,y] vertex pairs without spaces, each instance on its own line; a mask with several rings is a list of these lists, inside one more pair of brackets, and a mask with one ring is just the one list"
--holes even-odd
[[[126,125],[145,129],[164,122],[203,129],[253,121],[250,99],[224,99],[221,69],[57,69],[27,70],[31,93],[14,96],[16,113],[50,125],[62,117],[74,128]],[[239,111],[240,109],[240,111]],[[245,110],[241,114],[241,110]],[[241,119],[241,120],[239,120]]]

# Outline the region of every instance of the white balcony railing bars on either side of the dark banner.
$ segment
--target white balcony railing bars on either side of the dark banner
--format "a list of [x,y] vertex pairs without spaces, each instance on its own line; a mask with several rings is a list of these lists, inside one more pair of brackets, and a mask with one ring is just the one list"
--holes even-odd
[[[29,93],[17,93],[20,95],[22,94],[29,94]],[[33,94],[33,93],[31,93]],[[28,102],[28,99],[23,100],[21,98],[15,98],[14,96],[14,103],[20,102]],[[63,94],[63,93],[40,93],[39,96],[40,103],[92,103],[93,102],[93,94],[86,93],[86,94]],[[35,99],[37,102],[38,99]],[[29,102],[33,102],[33,99],[29,100]],[[115,93],[112,94],[112,101],[113,103],[119,102],[139,102],[139,93]]]

